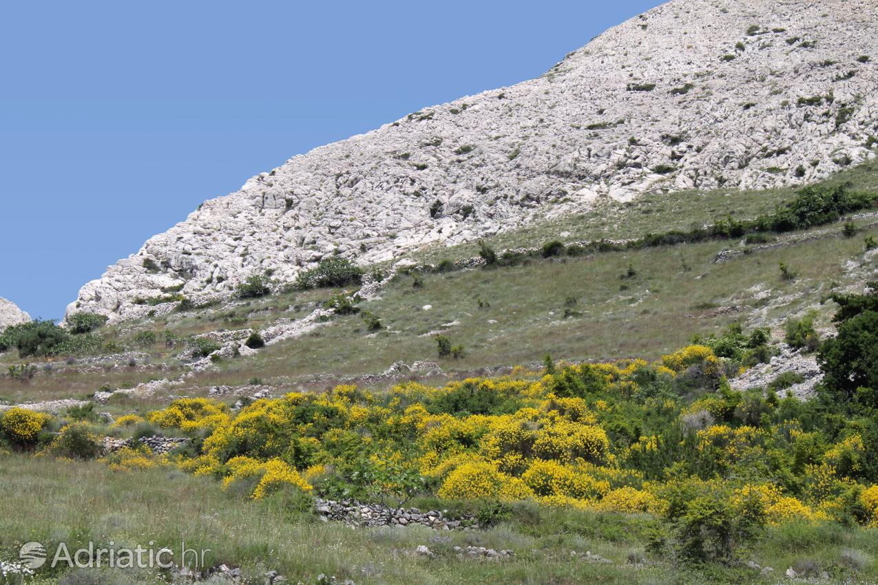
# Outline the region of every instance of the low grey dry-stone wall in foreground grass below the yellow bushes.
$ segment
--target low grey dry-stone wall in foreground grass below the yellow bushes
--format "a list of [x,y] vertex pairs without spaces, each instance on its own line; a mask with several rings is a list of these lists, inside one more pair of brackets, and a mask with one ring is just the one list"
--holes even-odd
[[379,503],[336,502],[320,500],[315,503],[320,518],[336,520],[349,526],[410,526],[421,524],[435,530],[454,530],[473,524],[472,517],[451,520],[439,510],[421,512],[417,508],[393,509]]

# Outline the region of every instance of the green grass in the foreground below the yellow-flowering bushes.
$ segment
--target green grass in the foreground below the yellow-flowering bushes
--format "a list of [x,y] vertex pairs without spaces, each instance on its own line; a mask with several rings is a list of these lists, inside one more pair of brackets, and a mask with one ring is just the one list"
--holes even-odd
[[[219,484],[168,467],[114,473],[103,464],[71,463],[26,455],[0,460],[0,559],[17,558],[21,543],[36,540],[50,554],[63,541],[73,549],[114,541],[117,546],[169,546],[211,549],[210,566],[226,563],[258,576],[268,569],[291,582],[314,583],[319,574],[351,579],[357,585],[381,583],[759,583],[745,567],[675,567],[666,559],[649,559],[645,567],[628,563],[644,553],[649,517],[597,514],[575,510],[530,508],[488,531],[436,532],[422,527],[351,530],[294,517],[279,500],[251,502],[228,496]],[[447,540],[436,541],[442,536]],[[434,559],[413,552],[427,545]],[[462,560],[453,546],[511,549],[513,560]],[[779,577],[787,566],[814,560],[840,582],[855,577],[874,582],[874,562],[859,573],[844,567],[842,553],[855,549],[869,560],[878,554],[874,531],[835,526],[769,529],[742,560],[772,566]],[[592,564],[571,555],[586,551],[613,560]],[[178,558],[179,553],[175,553]],[[57,582],[60,571],[40,569],[36,582]],[[104,585],[145,582],[155,574],[123,570],[102,575]],[[95,582],[80,581],[71,582]]]

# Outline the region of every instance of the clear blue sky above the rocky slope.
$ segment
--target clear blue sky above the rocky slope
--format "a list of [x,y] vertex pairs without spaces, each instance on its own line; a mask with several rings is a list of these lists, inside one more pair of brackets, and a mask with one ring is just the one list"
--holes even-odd
[[198,203],[314,146],[543,74],[661,4],[9,2],[0,296],[58,318]]

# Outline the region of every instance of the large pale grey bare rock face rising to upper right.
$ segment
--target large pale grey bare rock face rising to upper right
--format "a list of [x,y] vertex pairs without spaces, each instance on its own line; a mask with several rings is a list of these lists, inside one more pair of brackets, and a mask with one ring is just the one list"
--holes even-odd
[[423,108],[205,202],[86,284],[113,319],[183,286],[292,280],[337,251],[368,264],[680,189],[811,182],[874,158],[872,0],[672,0],[542,77]]

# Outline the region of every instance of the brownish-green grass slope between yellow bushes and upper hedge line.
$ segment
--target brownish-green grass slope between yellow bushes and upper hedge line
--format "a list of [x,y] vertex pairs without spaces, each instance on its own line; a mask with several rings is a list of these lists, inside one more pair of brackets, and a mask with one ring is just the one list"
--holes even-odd
[[[840,229],[830,225],[815,233],[835,236]],[[343,376],[380,373],[399,360],[438,361],[450,373],[467,373],[480,367],[535,364],[545,353],[565,360],[654,359],[685,345],[694,333],[719,332],[736,320],[745,325],[783,320],[819,303],[830,290],[829,282],[841,286],[857,282],[861,276],[850,275],[846,265],[862,259],[863,239],[868,235],[878,238],[878,230],[869,228],[850,239],[804,241],[719,264],[714,261],[716,253],[740,247],[737,241],[534,259],[511,268],[422,275],[423,286],[418,288],[413,277],[400,275],[378,299],[360,304],[381,319],[381,331],[368,332],[357,315],[335,317],[299,339],[265,347],[255,357],[223,360],[169,393],[204,395],[212,385],[238,385],[252,377],[319,389]],[[797,274],[794,281],[781,277],[781,262]],[[621,278],[629,265],[637,275]],[[314,303],[334,293],[309,291],[305,298]],[[567,306],[568,299],[575,304]],[[479,300],[489,306],[479,308]],[[234,309],[245,319],[237,327],[258,328],[278,317],[304,316],[311,305],[291,313],[285,309],[306,302],[288,293],[242,304]],[[432,309],[422,310],[428,304]],[[574,314],[565,318],[565,310]],[[227,326],[223,317],[227,312],[207,311],[167,326],[180,335],[209,331]],[[256,314],[248,317],[250,313]],[[437,331],[452,345],[464,346],[462,359],[438,358],[435,339],[429,334]],[[179,348],[167,350],[160,340],[149,351],[155,367],[143,370],[90,367],[42,373],[30,382],[4,377],[0,397],[18,403],[88,396],[104,384],[123,388],[184,373],[172,358]],[[163,361],[169,366],[161,367]]]

